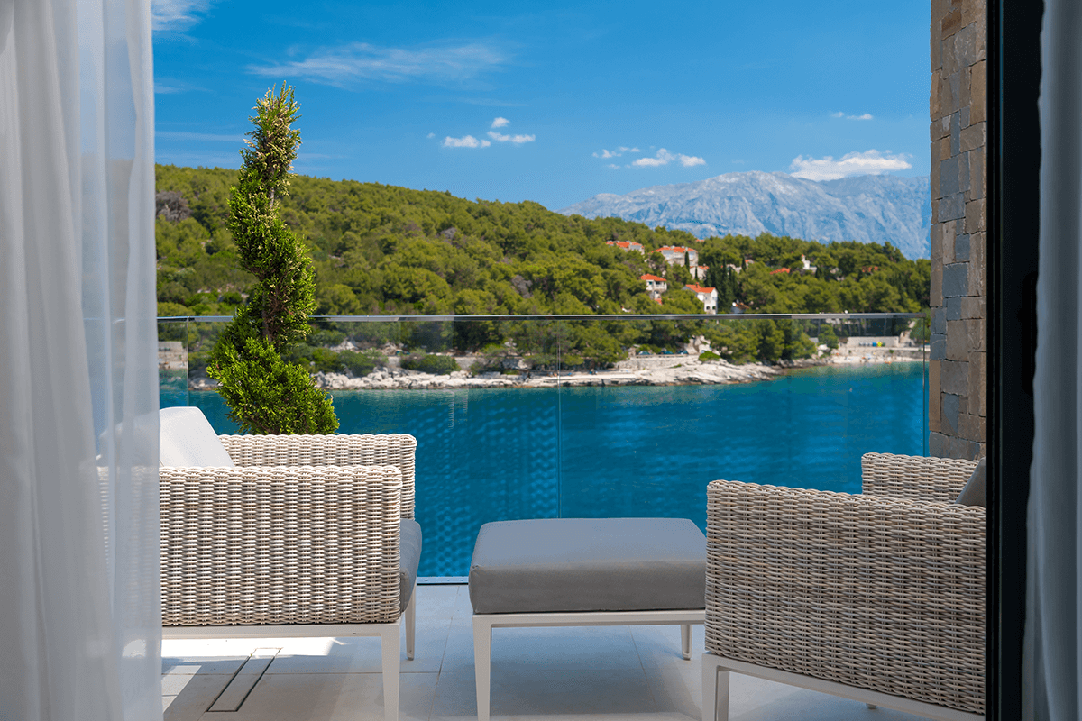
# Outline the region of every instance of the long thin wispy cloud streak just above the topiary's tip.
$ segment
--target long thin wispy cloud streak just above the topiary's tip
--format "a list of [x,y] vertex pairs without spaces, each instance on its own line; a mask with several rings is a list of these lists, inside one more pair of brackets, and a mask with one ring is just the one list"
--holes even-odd
[[329,85],[345,86],[358,81],[457,82],[491,70],[504,62],[503,55],[479,43],[446,48],[378,48],[353,42],[319,50],[303,61],[275,65],[249,65],[254,75],[307,78]]

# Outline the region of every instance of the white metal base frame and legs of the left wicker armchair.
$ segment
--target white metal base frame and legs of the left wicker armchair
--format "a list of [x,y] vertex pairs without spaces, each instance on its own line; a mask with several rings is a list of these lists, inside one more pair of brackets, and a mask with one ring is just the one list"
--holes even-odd
[[383,715],[398,721],[398,680],[403,618],[406,619],[406,658],[413,660],[417,638],[417,584],[406,612],[392,624],[305,624],[295,626],[162,626],[162,639],[319,639],[379,636],[383,655]]

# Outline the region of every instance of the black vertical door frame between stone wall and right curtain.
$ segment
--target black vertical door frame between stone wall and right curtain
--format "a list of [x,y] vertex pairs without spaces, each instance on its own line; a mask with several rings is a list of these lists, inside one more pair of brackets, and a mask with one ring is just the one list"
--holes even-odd
[[1043,0],[988,0],[989,721],[1022,712],[1043,14]]

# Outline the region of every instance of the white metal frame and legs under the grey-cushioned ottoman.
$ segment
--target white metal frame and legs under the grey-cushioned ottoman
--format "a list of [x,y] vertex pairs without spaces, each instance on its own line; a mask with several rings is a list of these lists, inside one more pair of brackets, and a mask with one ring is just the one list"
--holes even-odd
[[474,675],[477,679],[477,719],[489,721],[492,673],[492,629],[552,626],[681,626],[681,646],[691,658],[691,625],[705,623],[705,609],[687,611],[582,611],[547,613],[475,613]]

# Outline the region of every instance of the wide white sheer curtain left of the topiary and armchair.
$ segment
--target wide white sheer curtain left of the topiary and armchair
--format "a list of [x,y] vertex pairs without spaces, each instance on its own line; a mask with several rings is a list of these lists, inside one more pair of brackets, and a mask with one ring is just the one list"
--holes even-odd
[[0,0],[0,717],[161,718],[149,0]]

